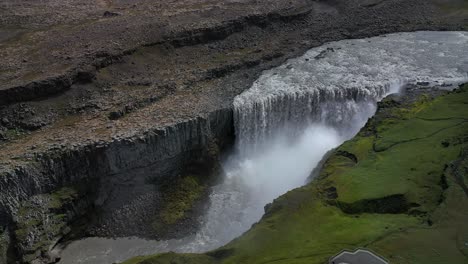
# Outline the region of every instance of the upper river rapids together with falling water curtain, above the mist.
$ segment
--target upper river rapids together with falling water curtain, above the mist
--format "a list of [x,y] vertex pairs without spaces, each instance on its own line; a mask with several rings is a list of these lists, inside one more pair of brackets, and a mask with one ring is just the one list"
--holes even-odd
[[274,138],[294,140],[313,124],[349,138],[377,101],[406,84],[447,87],[467,81],[467,47],[467,32],[414,32],[311,49],[265,71],[235,98],[237,149],[254,156]]

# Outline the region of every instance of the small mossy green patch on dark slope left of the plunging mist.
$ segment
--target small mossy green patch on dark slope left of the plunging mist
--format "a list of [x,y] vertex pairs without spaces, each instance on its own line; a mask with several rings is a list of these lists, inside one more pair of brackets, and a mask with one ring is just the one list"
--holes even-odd
[[185,176],[175,183],[163,186],[164,206],[153,221],[153,228],[164,232],[168,226],[177,224],[187,217],[194,204],[202,197],[207,185],[196,176]]

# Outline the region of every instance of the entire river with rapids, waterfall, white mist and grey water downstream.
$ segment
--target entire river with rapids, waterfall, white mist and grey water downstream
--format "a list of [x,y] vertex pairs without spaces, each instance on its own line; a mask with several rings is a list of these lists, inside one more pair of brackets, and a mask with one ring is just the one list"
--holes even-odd
[[224,162],[210,209],[193,236],[168,241],[87,238],[61,263],[113,263],[157,252],[216,248],[258,221],[265,204],[305,183],[330,149],[352,137],[376,102],[405,84],[468,81],[467,32],[345,40],[266,71],[234,100],[237,151]]

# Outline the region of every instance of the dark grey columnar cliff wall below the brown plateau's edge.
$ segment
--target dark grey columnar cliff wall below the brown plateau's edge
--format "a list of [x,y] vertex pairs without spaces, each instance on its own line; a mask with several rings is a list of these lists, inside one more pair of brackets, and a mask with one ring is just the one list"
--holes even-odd
[[[1,225],[26,262],[53,258],[47,256],[50,247],[89,210],[99,212],[87,228],[93,235],[154,238],[151,220],[164,204],[158,186],[192,162],[216,164],[219,152],[213,148],[225,146],[232,135],[232,111],[223,109],[138,137],[44,153],[2,168]],[[61,188],[72,193],[62,197]]]

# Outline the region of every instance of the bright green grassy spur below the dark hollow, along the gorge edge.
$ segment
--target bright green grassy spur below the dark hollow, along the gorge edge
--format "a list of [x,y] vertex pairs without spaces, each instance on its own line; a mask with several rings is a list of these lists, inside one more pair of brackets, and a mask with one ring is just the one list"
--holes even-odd
[[277,210],[226,246],[234,253],[223,263],[322,264],[342,249],[364,247],[419,222],[407,215],[345,214],[320,201],[312,189],[301,188],[275,201]]

